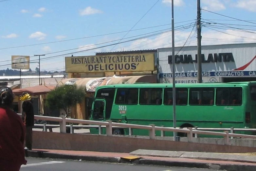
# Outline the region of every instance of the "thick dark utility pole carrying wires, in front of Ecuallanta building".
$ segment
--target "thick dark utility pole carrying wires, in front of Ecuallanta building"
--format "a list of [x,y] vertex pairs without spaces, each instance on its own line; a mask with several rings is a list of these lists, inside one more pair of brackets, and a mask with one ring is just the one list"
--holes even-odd
[[197,0],[197,82],[202,83],[202,56],[201,56],[201,7]]

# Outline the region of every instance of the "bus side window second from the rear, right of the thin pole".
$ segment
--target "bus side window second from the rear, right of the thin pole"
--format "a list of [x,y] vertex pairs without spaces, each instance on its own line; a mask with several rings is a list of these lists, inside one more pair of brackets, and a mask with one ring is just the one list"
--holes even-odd
[[191,88],[189,93],[190,105],[213,105],[214,88]]

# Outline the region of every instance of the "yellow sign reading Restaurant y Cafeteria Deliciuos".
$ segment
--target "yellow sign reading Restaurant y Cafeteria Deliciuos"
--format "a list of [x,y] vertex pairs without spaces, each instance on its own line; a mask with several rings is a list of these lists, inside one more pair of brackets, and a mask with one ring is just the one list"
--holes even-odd
[[66,73],[154,71],[154,53],[65,57]]

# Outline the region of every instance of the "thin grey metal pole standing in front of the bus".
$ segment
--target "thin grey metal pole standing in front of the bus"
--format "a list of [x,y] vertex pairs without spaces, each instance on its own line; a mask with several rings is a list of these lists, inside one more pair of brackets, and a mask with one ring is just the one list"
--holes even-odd
[[[174,49],[174,0],[172,0],[172,57],[173,57],[173,127],[176,128],[176,90],[175,90],[175,49]],[[176,132],[173,132],[174,141]]]

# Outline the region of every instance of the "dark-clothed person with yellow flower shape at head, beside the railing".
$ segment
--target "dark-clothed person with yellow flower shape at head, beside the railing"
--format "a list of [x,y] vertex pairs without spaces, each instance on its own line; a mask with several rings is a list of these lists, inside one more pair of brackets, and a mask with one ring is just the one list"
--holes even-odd
[[25,144],[27,149],[32,149],[32,127],[34,126],[34,109],[31,97],[28,93],[24,92],[20,99],[22,103],[22,119],[26,125],[26,140]]

